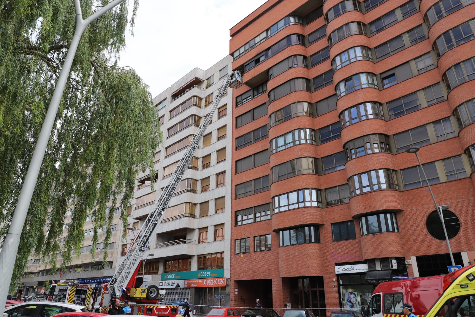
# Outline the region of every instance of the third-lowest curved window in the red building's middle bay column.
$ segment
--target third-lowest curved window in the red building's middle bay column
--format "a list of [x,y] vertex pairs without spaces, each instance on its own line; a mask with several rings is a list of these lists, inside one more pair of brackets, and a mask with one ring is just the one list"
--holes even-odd
[[371,153],[389,153],[389,137],[384,134],[365,135],[346,142],[343,149],[347,160]]

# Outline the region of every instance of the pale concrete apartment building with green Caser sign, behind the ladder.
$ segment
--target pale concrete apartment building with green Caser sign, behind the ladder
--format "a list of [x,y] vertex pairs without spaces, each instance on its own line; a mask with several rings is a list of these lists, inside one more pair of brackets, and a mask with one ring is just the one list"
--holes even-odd
[[[163,144],[155,155],[155,175],[139,175],[129,217],[132,239],[152,211],[214,97],[231,72],[230,56],[207,70],[195,68],[153,99],[160,114]],[[232,89],[217,111],[143,256],[144,284],[166,290],[165,300],[196,305],[229,304]],[[150,184],[154,181],[155,188]],[[121,261],[129,243],[121,245]],[[142,272],[139,272],[141,274]],[[141,274],[142,275],[142,274]],[[203,277],[203,278],[201,278]],[[210,278],[213,277],[213,278]],[[165,283],[166,282],[166,283]],[[197,307],[195,307],[196,309]],[[201,311],[202,310],[202,311]],[[207,307],[199,312],[207,313]]]

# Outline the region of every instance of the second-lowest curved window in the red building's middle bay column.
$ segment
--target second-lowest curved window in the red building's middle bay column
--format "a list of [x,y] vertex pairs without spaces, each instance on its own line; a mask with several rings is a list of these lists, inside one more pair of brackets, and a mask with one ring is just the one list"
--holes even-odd
[[398,189],[394,171],[375,169],[348,178],[352,196],[378,189]]

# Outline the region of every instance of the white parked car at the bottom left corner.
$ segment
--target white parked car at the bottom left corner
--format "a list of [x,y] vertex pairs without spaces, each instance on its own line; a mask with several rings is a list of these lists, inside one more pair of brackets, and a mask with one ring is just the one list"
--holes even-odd
[[74,304],[31,301],[5,308],[3,312],[8,317],[50,317],[59,313],[74,311],[86,312],[87,309],[85,306]]

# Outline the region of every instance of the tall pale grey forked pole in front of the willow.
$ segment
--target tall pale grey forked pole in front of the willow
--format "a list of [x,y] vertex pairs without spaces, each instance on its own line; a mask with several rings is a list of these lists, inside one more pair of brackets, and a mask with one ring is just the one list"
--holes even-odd
[[97,10],[93,15],[83,20],[81,4],[79,0],[74,0],[74,7],[76,9],[76,30],[74,32],[73,40],[69,45],[63,68],[59,74],[53,97],[49,103],[45,121],[41,127],[35,150],[33,151],[33,156],[31,157],[28,167],[27,175],[23,180],[17,206],[11,219],[10,228],[0,251],[0,279],[2,281],[0,286],[0,307],[4,307],[5,301],[7,300],[11,276],[13,275],[13,267],[15,267],[15,260],[17,258],[21,231],[23,230],[25,219],[27,218],[31,197],[33,196],[33,191],[38,180],[39,170],[43,162],[43,157],[45,156],[48,141],[51,136],[51,130],[55,123],[59,102],[63,96],[66,80],[69,76],[74,56],[76,55],[79,40],[81,39],[85,28],[91,22],[101,17],[105,12],[111,10],[123,1],[124,0],[111,1],[100,10]]

